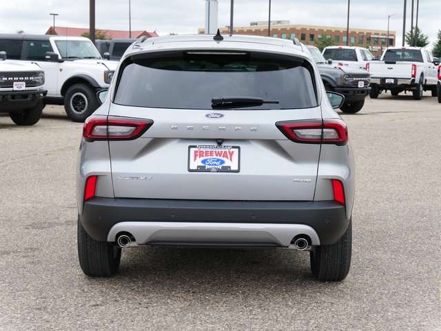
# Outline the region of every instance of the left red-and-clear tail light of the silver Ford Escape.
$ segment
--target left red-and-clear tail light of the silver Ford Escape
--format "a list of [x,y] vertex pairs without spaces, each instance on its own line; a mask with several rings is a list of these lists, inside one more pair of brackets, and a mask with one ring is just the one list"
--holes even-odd
[[125,119],[124,117],[89,117],[83,128],[85,141],[134,140],[141,137],[153,124],[151,119]]

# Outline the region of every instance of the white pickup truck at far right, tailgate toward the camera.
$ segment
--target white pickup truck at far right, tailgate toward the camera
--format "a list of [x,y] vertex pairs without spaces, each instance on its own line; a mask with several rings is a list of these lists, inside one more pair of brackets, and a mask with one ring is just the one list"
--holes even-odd
[[382,91],[390,90],[392,95],[411,91],[415,100],[422,98],[423,91],[431,91],[436,97],[439,66],[440,60],[425,48],[389,48],[381,61],[367,63],[366,69],[371,72],[369,96],[376,99]]

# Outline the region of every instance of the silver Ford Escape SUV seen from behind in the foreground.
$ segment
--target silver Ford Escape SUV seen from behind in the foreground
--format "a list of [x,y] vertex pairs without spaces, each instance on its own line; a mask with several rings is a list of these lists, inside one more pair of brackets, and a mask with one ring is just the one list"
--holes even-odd
[[345,279],[355,172],[333,109],[343,99],[298,40],[140,39],[84,124],[83,272],[111,276],[121,248],[281,248],[309,251],[317,279]]

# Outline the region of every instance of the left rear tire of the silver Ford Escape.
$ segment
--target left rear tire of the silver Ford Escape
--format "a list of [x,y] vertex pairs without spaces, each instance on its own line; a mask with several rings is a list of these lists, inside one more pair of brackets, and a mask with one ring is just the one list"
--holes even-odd
[[121,248],[106,241],[96,241],[85,232],[78,217],[78,257],[81,270],[91,277],[110,277],[121,261]]

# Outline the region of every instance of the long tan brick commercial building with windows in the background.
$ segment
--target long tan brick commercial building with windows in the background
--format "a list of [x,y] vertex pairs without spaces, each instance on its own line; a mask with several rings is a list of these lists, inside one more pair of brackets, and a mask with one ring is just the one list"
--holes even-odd
[[[229,27],[219,28],[220,33],[228,34]],[[198,29],[198,33],[205,33],[205,29]],[[234,34],[268,35],[268,21],[251,22],[250,26],[234,27]],[[272,37],[294,39],[302,43],[316,46],[322,38],[331,39],[336,46],[362,46],[371,50],[374,55],[381,55],[387,46],[395,46],[396,32],[387,30],[367,30],[349,28],[349,42],[347,41],[347,28],[329,26],[303,26],[289,24],[289,21],[271,21],[270,32]],[[388,45],[389,44],[389,45]]]

